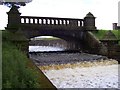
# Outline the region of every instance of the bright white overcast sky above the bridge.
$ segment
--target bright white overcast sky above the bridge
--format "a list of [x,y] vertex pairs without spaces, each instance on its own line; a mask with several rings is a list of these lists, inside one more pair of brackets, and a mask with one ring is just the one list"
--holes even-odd
[[[33,0],[19,10],[21,16],[64,17],[83,19],[88,12],[96,17],[98,29],[112,29],[118,22],[119,0]],[[10,8],[0,5],[0,29],[7,24]]]

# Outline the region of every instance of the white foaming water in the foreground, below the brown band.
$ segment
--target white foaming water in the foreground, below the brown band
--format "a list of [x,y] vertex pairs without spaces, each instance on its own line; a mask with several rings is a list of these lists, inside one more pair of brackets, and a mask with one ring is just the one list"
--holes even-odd
[[57,88],[118,88],[118,65],[43,70]]

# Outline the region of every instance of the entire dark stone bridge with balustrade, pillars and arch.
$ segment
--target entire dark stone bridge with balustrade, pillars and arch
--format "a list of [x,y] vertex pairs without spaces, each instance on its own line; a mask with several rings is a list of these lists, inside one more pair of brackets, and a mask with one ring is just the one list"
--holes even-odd
[[[90,31],[96,30],[95,17],[90,12],[84,19],[33,17],[21,16],[18,9],[13,6],[7,14],[8,25],[6,29],[16,35],[21,34],[28,42],[30,38],[37,36],[54,36],[70,43],[69,46],[72,49],[96,50],[95,48],[100,45],[100,41],[90,34]],[[15,41],[20,40],[16,38]],[[27,47],[27,50],[28,46],[28,44],[23,44],[23,47]]]

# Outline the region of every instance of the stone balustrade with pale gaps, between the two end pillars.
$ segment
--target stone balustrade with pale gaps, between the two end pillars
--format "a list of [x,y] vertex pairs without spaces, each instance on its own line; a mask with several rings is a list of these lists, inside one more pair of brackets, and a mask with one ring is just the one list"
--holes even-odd
[[21,23],[83,27],[83,19],[21,16]]

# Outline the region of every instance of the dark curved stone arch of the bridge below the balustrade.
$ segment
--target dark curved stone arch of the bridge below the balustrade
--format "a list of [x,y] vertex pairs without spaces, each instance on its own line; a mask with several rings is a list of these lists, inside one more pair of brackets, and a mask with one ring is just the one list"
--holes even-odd
[[69,50],[84,50],[83,36],[85,32],[82,30],[21,28],[19,31],[28,39],[37,36],[53,36],[65,40]]

